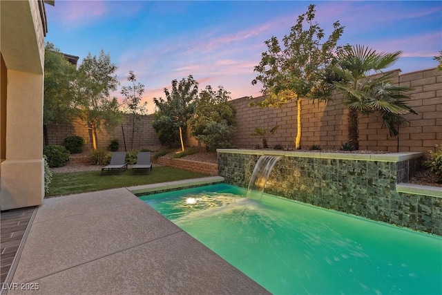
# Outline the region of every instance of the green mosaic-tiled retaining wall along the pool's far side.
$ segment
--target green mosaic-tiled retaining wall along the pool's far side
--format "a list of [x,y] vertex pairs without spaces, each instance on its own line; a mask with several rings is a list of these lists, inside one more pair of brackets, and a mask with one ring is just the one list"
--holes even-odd
[[247,188],[261,155],[281,158],[266,193],[442,236],[442,198],[400,193],[421,153],[349,154],[218,149],[218,175]]

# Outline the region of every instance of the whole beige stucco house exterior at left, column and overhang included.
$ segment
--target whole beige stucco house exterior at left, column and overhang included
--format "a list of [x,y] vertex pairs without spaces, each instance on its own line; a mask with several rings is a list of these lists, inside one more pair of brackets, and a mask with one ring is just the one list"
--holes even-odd
[[0,209],[44,198],[44,1],[0,1]]

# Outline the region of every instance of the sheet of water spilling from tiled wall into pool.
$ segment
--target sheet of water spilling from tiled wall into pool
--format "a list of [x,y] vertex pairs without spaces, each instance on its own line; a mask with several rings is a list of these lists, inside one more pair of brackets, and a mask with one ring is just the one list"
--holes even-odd
[[278,155],[262,155],[258,162],[256,162],[255,168],[249,182],[249,189],[247,191],[247,197],[251,196],[251,191],[257,191],[262,194],[265,189],[265,184],[269,180],[269,175],[273,166],[280,160]]

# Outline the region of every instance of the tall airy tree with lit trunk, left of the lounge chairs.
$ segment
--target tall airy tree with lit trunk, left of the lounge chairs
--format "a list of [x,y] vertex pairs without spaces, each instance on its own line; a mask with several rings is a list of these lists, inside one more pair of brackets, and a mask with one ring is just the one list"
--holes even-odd
[[118,85],[115,70],[117,66],[111,57],[101,50],[98,57],[88,53],[77,71],[74,83],[77,108],[88,124],[94,150],[97,149],[97,130],[103,125],[108,132],[113,132],[122,120],[117,98],[110,97]]

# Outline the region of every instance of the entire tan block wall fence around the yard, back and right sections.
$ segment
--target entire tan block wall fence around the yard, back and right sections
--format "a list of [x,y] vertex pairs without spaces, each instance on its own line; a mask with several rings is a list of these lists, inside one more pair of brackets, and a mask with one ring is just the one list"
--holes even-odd
[[[382,119],[376,115],[359,115],[360,149],[372,151],[400,152],[434,151],[435,145],[442,144],[442,72],[435,68],[419,70],[401,75],[401,70],[392,72],[392,82],[398,86],[409,86],[410,100],[407,102],[418,115],[405,115],[410,126],[399,129],[399,136],[389,137]],[[258,97],[256,99],[264,99]],[[249,98],[231,100],[236,108],[238,122],[233,143],[240,149],[253,149],[262,142],[259,137],[251,136],[255,127],[272,127],[280,125],[276,133],[269,137],[270,147],[281,144],[285,149],[294,149],[296,137],[296,102],[286,104],[283,108],[258,108],[249,106]],[[333,102],[312,104],[302,102],[302,148],[308,149],[316,144],[322,149],[339,149],[347,142],[347,109],[343,107],[343,96],[335,95]],[[135,132],[134,149],[160,146],[151,122],[153,115],[140,116],[140,130]],[[124,135],[126,147],[131,149],[131,115],[124,116]],[[97,133],[97,144],[106,148],[109,140],[118,138],[120,149],[124,150],[122,126],[113,134],[106,131]],[[63,144],[65,137],[79,135],[86,139],[86,149],[90,149],[90,134],[84,123],[48,126],[49,144]],[[187,146],[198,146],[194,138],[188,138]]]

